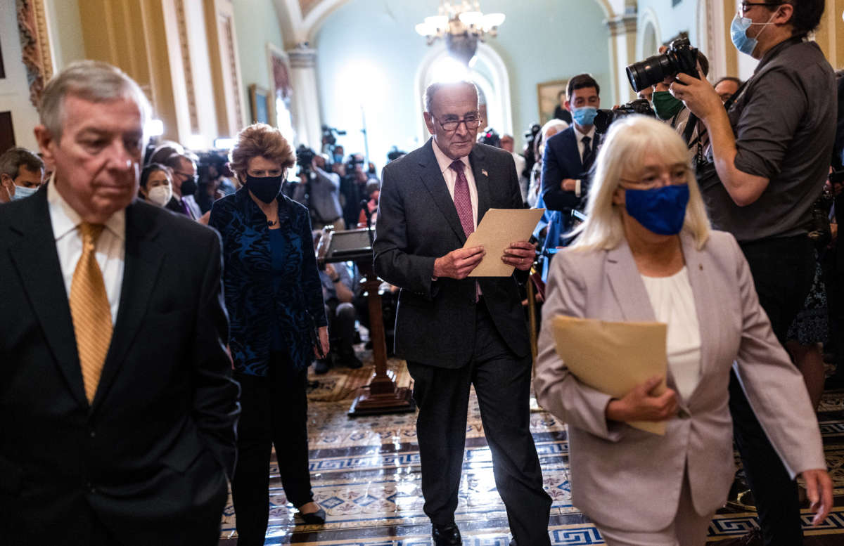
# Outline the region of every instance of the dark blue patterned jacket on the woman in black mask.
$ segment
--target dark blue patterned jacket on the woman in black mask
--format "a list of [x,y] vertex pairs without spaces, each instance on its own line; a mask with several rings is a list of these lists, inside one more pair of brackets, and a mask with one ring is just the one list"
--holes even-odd
[[246,188],[215,201],[208,221],[223,238],[223,286],[235,370],[257,376],[267,375],[274,325],[299,371],[313,356],[311,329],[327,324],[308,210],[284,195],[278,201],[279,229],[290,249],[278,290],[273,289],[267,218]]

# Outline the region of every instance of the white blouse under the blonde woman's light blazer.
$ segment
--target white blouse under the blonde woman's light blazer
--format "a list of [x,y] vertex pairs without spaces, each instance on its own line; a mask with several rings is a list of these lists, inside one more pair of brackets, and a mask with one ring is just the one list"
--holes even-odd
[[668,368],[679,395],[688,400],[701,378],[701,330],[685,266],[672,276],[641,276],[653,312],[668,324]]

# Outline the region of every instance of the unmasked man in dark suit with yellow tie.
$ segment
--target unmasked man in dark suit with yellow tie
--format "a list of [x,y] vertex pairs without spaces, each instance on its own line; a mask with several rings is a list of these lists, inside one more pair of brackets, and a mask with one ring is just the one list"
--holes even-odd
[[141,201],[149,103],[101,62],[47,84],[55,167],[0,207],[0,542],[219,542],[239,387],[219,236]]

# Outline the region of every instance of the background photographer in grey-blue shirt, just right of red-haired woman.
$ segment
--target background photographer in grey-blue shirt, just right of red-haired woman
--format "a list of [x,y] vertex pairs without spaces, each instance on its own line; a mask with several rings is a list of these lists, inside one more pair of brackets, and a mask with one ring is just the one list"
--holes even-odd
[[[305,148],[305,149],[302,149]],[[299,162],[299,184],[293,190],[293,200],[311,211],[311,229],[333,225],[342,231],[346,228],[343,208],[340,206],[340,176],[326,170],[327,158],[300,145],[296,150]]]

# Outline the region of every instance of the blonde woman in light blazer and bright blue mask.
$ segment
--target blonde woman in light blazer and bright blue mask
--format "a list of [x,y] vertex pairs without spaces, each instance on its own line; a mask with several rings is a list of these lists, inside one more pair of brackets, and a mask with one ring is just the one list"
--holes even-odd
[[[728,383],[744,391],[822,522],[832,504],[809,395],[760,308],[732,235],[711,231],[682,139],[657,120],[616,121],[598,156],[575,246],[551,265],[535,385],[568,423],[571,498],[611,546],[706,542],[733,480]],[[661,377],[612,399],[581,383],[555,353],[556,315],[668,323]],[[665,436],[625,425],[665,420]]]

